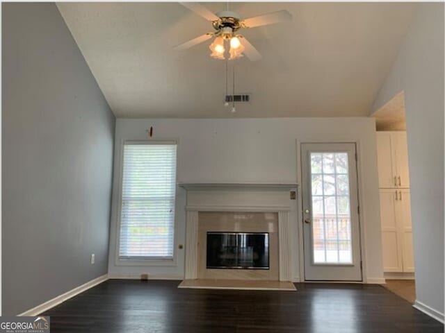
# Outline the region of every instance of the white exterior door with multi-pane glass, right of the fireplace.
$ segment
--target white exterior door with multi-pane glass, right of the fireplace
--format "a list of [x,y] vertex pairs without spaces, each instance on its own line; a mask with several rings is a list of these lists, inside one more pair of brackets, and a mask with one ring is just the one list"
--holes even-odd
[[362,281],[355,144],[302,144],[305,280]]

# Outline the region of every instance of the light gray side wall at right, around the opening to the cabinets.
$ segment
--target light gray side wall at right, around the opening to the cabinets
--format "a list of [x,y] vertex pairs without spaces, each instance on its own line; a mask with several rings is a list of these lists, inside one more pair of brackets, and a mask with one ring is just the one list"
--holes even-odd
[[444,3],[422,3],[378,110],[405,91],[416,298],[444,313]]

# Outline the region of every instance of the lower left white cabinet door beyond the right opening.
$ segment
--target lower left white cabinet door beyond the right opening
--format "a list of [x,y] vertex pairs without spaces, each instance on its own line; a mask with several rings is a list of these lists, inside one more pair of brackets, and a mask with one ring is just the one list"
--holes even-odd
[[396,189],[380,189],[383,271],[403,272],[400,230],[396,221]]

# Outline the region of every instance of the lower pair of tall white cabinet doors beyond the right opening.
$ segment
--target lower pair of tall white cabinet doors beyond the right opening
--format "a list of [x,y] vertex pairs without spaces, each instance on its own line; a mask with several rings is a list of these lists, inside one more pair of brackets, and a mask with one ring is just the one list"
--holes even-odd
[[380,189],[383,271],[414,272],[409,189]]

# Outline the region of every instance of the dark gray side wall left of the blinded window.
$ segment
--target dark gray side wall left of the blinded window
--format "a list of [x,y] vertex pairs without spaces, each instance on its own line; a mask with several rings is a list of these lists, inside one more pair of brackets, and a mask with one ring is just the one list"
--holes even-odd
[[8,315],[107,273],[115,117],[54,3],[2,8]]

